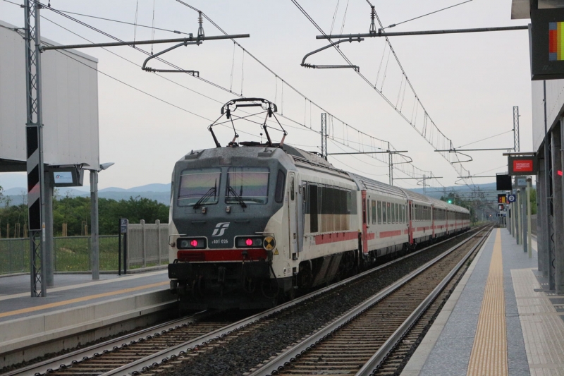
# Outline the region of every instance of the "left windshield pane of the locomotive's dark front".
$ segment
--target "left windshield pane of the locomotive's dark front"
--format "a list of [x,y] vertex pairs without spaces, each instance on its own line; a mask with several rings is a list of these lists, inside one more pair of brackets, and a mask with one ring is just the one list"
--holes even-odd
[[188,169],[180,173],[178,205],[216,204],[221,169]]

